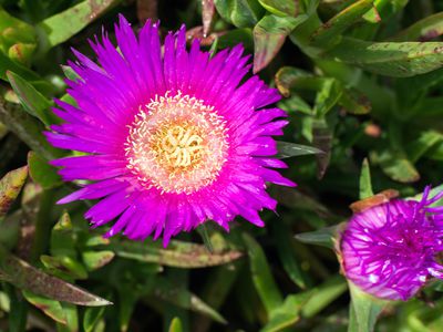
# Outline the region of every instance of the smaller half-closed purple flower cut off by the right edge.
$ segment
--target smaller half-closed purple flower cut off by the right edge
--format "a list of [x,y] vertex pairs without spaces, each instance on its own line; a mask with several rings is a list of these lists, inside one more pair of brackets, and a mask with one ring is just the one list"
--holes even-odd
[[436,255],[443,250],[443,191],[420,201],[392,199],[352,216],[341,237],[346,277],[382,299],[408,300],[430,276],[443,279]]

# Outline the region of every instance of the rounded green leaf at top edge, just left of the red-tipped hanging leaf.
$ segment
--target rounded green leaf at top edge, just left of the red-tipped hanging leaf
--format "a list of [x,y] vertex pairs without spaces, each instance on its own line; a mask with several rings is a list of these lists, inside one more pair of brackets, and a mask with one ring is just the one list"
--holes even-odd
[[214,0],[220,17],[237,28],[257,24],[265,10],[257,0]]

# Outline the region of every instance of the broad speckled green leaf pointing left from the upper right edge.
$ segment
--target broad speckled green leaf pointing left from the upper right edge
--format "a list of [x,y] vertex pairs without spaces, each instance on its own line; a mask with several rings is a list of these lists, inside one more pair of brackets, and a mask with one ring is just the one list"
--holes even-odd
[[441,68],[443,43],[371,43],[343,38],[341,43],[322,56],[351,63],[381,75],[408,77]]

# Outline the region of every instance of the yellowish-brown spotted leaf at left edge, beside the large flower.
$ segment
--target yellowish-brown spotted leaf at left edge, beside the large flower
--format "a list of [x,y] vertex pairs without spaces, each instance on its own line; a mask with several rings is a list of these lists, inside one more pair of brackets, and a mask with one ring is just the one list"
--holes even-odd
[[0,218],[4,217],[11,204],[19,196],[28,178],[28,167],[9,172],[0,180]]

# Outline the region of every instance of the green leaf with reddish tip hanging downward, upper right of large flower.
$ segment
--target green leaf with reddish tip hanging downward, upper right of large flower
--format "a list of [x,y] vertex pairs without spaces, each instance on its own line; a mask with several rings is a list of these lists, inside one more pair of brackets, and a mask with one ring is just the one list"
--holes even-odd
[[286,38],[308,17],[265,15],[254,27],[254,73],[259,72],[272,61],[280,51]]

